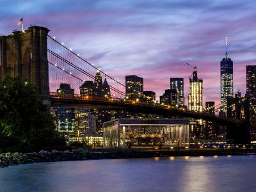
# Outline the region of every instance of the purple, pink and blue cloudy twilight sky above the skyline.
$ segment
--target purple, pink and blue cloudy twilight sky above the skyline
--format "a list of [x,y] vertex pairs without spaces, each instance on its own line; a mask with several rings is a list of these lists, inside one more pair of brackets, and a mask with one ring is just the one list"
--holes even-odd
[[124,83],[125,75],[144,78],[144,90],[159,95],[170,77],[184,77],[186,101],[193,68],[204,80],[204,102],[220,102],[220,60],[234,61],[234,90],[246,89],[246,65],[256,59],[256,1],[228,0],[0,0],[0,34],[30,24]]

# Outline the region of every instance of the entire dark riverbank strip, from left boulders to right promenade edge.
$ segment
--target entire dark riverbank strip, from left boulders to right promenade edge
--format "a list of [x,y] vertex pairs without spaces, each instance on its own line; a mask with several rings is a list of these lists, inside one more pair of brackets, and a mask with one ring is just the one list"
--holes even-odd
[[15,164],[54,162],[54,161],[77,161],[92,159],[128,159],[168,156],[234,156],[255,154],[255,149],[205,149],[205,150],[167,150],[154,148],[98,148],[76,149],[51,152],[41,150],[33,153],[6,153],[0,154],[0,167]]

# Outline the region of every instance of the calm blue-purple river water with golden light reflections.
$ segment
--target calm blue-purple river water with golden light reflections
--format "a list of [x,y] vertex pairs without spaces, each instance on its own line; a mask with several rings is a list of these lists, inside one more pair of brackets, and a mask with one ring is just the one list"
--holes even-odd
[[256,191],[256,156],[22,164],[0,168],[0,191]]

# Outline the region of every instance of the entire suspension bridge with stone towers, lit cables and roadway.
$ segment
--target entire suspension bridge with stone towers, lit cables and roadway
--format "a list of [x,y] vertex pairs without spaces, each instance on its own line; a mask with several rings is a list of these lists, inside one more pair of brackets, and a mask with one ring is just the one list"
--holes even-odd
[[[231,115],[221,117],[207,113],[207,110],[195,112],[182,107],[130,99],[125,95],[125,84],[115,79],[115,75],[102,72],[48,33],[47,28],[31,26],[25,31],[13,31],[10,35],[0,36],[1,81],[5,77],[15,76],[27,79],[35,84],[45,104],[52,107],[122,109],[136,113],[202,119],[227,126],[227,137],[236,143],[250,143],[247,99],[232,103],[232,107],[236,106],[237,110],[242,104],[246,106],[244,119],[232,118]],[[108,79],[109,93],[103,97],[79,95],[79,87],[85,81],[94,79],[96,71]],[[70,84],[74,88],[74,95],[56,92],[61,83]]]

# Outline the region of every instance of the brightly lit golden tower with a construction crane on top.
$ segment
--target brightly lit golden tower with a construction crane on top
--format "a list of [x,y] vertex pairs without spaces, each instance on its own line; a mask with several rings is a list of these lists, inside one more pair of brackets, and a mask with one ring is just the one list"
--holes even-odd
[[203,79],[198,79],[196,70],[193,71],[193,77],[189,78],[188,109],[203,111]]

